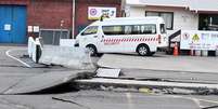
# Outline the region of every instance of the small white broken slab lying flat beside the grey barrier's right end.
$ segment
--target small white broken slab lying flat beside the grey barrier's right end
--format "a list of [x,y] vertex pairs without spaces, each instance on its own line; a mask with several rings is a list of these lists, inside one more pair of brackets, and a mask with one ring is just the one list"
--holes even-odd
[[97,77],[101,77],[101,78],[118,78],[119,73],[120,73],[120,69],[99,68],[97,70]]

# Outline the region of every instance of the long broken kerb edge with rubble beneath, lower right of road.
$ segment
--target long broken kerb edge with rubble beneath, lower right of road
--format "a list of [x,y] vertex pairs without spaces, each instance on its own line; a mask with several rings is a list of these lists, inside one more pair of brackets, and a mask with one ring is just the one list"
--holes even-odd
[[[218,84],[204,83],[181,83],[181,82],[163,82],[163,81],[137,81],[125,79],[102,79],[93,78],[86,80],[75,80],[80,85],[89,85],[104,91],[116,91],[116,87],[134,87],[142,93],[158,94],[218,94]],[[95,84],[95,85],[94,85]],[[104,85],[104,86],[102,86]],[[85,86],[84,86],[85,87]]]

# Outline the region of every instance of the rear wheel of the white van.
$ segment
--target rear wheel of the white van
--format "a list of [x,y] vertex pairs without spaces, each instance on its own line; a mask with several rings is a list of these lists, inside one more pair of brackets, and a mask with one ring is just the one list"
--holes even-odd
[[149,49],[149,46],[146,44],[140,44],[137,47],[137,53],[140,56],[149,56],[151,54],[150,49]]

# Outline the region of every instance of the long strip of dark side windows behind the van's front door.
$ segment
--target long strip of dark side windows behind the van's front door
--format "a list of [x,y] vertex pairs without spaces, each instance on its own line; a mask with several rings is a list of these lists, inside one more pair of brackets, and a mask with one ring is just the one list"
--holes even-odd
[[104,35],[155,35],[156,25],[103,26]]

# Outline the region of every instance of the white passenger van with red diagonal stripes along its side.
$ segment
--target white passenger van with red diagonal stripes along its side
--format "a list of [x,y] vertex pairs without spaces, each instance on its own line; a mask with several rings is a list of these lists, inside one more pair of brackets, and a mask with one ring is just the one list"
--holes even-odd
[[132,53],[153,55],[168,45],[164,19],[161,17],[118,17],[97,21],[76,38],[76,46],[97,53]]

